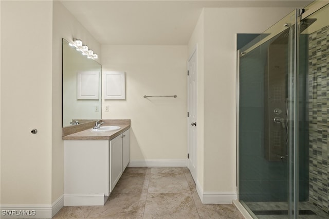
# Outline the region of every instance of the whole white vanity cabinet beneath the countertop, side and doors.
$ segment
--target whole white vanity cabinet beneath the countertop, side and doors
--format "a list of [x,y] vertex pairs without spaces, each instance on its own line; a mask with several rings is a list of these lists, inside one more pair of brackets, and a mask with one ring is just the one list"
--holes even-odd
[[64,206],[104,205],[129,161],[129,129],[111,140],[64,140]]

